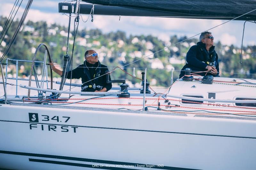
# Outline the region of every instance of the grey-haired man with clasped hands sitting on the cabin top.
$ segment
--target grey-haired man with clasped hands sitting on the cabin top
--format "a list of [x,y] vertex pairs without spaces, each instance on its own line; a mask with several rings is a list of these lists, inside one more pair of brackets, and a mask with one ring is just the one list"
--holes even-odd
[[[219,76],[219,61],[218,55],[214,50],[213,36],[211,32],[203,32],[200,35],[200,41],[196,45],[192,46],[187,53],[187,63],[180,71],[180,78],[185,74],[186,68],[190,68],[193,72],[209,71],[207,75],[214,77]],[[204,76],[206,73],[196,73]]]

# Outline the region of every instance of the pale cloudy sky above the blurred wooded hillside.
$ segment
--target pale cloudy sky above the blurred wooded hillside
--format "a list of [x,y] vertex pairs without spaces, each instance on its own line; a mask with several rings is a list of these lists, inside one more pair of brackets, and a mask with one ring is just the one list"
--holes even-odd
[[[48,25],[57,23],[62,26],[68,26],[68,16],[58,13],[58,4],[64,0],[34,0],[28,11],[28,20],[46,21]],[[66,0],[69,1],[69,0]],[[0,15],[8,17],[14,0],[0,0]],[[26,7],[27,0],[23,0],[16,16],[20,17]],[[86,20],[88,15],[82,14]],[[103,33],[121,30],[126,35],[153,35],[163,41],[169,41],[170,36],[177,35],[191,37],[214,26],[218,26],[227,20],[211,19],[182,19],[182,18],[156,18],[156,17],[126,17],[121,16],[100,16],[94,15],[94,21],[91,17],[86,23],[80,20],[79,29],[98,28]],[[73,18],[72,18],[73,20]],[[215,42],[221,41],[225,45],[235,45],[241,48],[244,21],[230,21],[210,30],[214,36]],[[73,25],[71,30],[73,30]],[[199,39],[199,35],[195,38]],[[244,29],[243,45],[256,45],[256,24],[246,22]]]

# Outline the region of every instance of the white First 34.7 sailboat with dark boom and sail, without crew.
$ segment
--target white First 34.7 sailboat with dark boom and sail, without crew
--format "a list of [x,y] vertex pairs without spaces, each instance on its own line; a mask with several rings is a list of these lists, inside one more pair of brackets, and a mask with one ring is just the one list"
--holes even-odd
[[[60,3],[59,12],[256,20],[255,3],[247,0],[83,1],[92,4]],[[46,67],[50,52],[40,44],[36,53],[39,48],[45,49]],[[256,169],[255,79],[203,77],[186,70],[168,91],[154,93],[145,69],[139,89],[116,80],[120,88],[111,92],[52,90],[52,71],[51,89],[36,76],[36,53],[28,85],[19,86],[28,93],[11,96],[5,90],[2,98],[0,168]],[[32,73],[36,87],[30,84]],[[3,69],[2,77],[7,81]],[[74,95],[59,97],[62,93]]]

